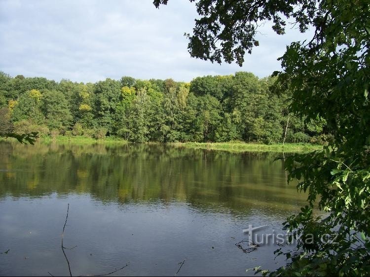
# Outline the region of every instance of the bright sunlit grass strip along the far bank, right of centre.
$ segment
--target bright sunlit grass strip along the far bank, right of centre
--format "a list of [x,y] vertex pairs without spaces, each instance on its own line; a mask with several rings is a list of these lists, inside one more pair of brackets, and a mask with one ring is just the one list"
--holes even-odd
[[173,143],[176,146],[194,148],[194,149],[210,149],[210,150],[224,150],[232,152],[243,151],[263,151],[263,152],[308,152],[322,149],[321,145],[309,143],[274,143],[274,144],[259,144],[247,143],[242,141],[231,142],[185,142]]

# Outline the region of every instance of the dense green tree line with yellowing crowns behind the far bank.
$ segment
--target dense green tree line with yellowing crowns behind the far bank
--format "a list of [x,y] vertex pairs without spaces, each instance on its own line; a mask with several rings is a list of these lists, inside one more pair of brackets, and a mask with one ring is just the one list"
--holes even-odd
[[322,142],[325,122],[288,113],[291,95],[249,72],[190,83],[124,76],[93,83],[0,72],[0,132],[117,136],[134,142]]

